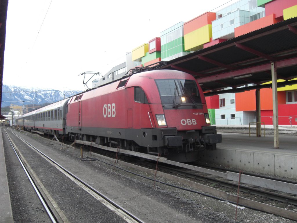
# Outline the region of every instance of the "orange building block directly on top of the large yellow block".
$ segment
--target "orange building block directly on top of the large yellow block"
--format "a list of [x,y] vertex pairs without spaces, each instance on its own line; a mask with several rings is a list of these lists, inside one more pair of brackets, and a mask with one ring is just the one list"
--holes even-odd
[[215,12],[205,12],[204,14],[184,23],[184,35],[208,24],[211,25],[211,22],[214,20],[216,20]]

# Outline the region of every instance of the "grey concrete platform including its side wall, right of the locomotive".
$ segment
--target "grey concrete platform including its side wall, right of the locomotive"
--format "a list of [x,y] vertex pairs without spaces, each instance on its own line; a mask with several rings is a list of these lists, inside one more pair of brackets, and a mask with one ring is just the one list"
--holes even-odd
[[[255,126],[216,125],[222,134],[217,150],[201,153],[199,160],[222,167],[297,179],[297,126],[279,126],[279,148],[274,148],[273,126],[257,137]],[[253,130],[253,131],[252,131]],[[244,133],[244,134],[243,134]]]

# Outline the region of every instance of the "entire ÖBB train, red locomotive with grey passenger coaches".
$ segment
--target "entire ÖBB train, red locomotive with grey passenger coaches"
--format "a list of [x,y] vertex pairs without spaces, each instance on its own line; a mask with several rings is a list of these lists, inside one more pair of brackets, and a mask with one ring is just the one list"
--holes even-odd
[[179,162],[216,149],[222,135],[210,125],[206,100],[195,78],[177,70],[128,75],[16,119],[27,130]]

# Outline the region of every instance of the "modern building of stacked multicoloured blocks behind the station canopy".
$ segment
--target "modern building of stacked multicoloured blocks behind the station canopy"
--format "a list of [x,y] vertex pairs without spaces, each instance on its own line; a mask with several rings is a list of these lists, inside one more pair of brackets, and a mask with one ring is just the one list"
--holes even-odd
[[[170,61],[296,16],[297,0],[240,0],[162,31],[160,37],[132,50],[130,58],[127,57],[127,67],[126,64],[114,67],[104,78],[112,80],[110,73],[124,66],[127,72],[133,67]],[[297,125],[297,85],[277,90],[279,125]],[[206,97],[211,123],[248,125],[256,122],[255,100],[255,90]],[[272,125],[272,89],[260,90],[260,104],[261,122]]]

